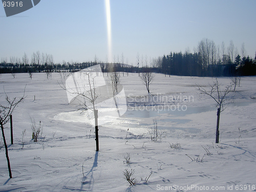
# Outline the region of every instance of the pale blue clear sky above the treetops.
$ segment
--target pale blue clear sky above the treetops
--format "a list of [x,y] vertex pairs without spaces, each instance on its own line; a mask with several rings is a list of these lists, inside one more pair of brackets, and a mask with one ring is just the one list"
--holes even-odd
[[[26,0],[28,1],[28,0]],[[255,0],[110,0],[112,55],[136,65],[136,56],[150,58],[169,52],[194,53],[203,38],[216,45],[233,40],[247,55],[256,51]],[[52,54],[54,62],[108,57],[103,0],[41,0],[34,8],[6,17],[0,7],[0,58],[24,52]],[[114,61],[114,58],[108,61]],[[145,61],[144,61],[145,62]]]

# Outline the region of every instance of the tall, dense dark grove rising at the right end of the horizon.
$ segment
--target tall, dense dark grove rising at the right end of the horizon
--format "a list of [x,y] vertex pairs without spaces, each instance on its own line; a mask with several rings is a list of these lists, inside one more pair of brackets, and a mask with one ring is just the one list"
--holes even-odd
[[244,44],[240,55],[232,40],[227,48],[224,42],[220,48],[214,41],[204,38],[195,53],[186,51],[163,55],[158,69],[160,73],[183,76],[256,75],[256,53],[254,59],[246,57],[245,53]]

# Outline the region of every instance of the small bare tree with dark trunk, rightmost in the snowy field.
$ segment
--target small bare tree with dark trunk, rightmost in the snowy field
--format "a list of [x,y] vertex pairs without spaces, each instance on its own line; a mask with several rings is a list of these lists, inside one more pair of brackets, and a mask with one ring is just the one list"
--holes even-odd
[[216,127],[216,143],[219,143],[219,125],[220,125],[220,115],[226,108],[224,108],[224,104],[226,101],[230,101],[232,97],[229,97],[233,84],[230,83],[229,86],[226,86],[224,90],[221,90],[221,85],[216,78],[213,84],[209,84],[210,90],[206,91],[203,87],[198,87],[200,94],[205,94],[214,99],[218,106],[217,111],[217,127]]

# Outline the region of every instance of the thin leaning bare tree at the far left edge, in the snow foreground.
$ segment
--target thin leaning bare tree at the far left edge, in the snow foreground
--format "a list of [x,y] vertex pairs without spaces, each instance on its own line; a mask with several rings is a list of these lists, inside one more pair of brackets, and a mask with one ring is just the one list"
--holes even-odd
[[10,178],[12,178],[11,165],[10,165],[10,160],[9,160],[9,156],[8,156],[8,146],[7,146],[6,139],[5,139],[5,132],[4,132],[5,127],[4,126],[10,120],[10,115],[12,114],[12,112],[14,111],[14,109],[16,108],[18,103],[20,103],[24,100],[24,96],[20,99],[16,99],[16,98],[10,99],[6,95],[5,100],[6,100],[5,105],[0,104],[0,125],[1,125],[2,135],[3,135],[3,139],[4,139],[4,144],[5,144],[5,154],[6,154],[7,164],[8,164],[9,176],[10,176]]

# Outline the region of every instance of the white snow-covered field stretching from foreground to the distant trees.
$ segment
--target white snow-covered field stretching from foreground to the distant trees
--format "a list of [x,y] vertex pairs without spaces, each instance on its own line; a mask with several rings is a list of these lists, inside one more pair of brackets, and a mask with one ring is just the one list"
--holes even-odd
[[[59,85],[63,76],[2,74],[0,102],[5,93],[22,97],[25,87],[26,99],[13,113],[13,145],[5,129],[12,179],[0,139],[0,191],[256,191],[256,77],[241,78],[233,103],[221,113],[220,144],[216,103],[197,91],[213,80],[156,74],[148,96],[138,74],[121,73],[128,110],[118,119],[99,114],[106,123],[99,126],[95,152],[94,127],[68,104]],[[218,80],[223,86],[231,81]],[[31,119],[43,126],[38,142]],[[160,142],[151,140],[154,121]],[[136,185],[123,178],[125,169],[135,170]]]

